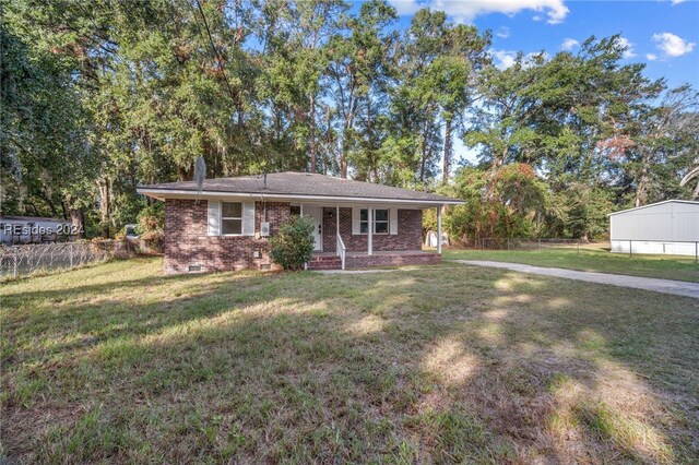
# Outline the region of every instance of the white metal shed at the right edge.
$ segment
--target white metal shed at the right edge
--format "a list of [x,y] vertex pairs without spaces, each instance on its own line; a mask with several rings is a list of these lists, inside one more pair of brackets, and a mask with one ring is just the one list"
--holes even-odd
[[609,215],[613,252],[695,255],[699,202],[666,200]]

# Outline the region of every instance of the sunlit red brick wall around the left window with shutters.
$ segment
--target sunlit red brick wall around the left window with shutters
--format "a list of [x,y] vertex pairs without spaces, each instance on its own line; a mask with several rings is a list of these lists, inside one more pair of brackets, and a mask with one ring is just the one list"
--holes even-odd
[[[190,265],[200,265],[202,272],[260,269],[270,265],[269,238],[254,236],[206,236],[208,202],[201,200],[167,199],[165,201],[165,271],[188,273]],[[266,217],[271,233],[291,215],[288,203],[266,203]],[[256,233],[263,220],[263,206],[256,202]],[[254,259],[253,252],[260,252]]]

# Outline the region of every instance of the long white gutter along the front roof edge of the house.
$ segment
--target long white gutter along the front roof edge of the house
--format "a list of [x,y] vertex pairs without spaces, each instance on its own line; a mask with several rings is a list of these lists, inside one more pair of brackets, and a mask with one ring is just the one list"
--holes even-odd
[[269,194],[269,193],[251,193],[251,192],[223,192],[223,191],[202,191],[201,194],[183,190],[183,189],[149,189],[137,188],[140,194],[149,195],[156,199],[166,199],[174,195],[186,195],[191,198],[216,195],[227,198],[262,198],[265,199],[292,199],[292,200],[309,200],[309,201],[334,201],[334,202],[376,202],[376,203],[416,203],[428,205],[462,205],[462,200],[423,200],[423,199],[381,199],[366,196],[340,196],[340,195],[304,195],[304,194]]

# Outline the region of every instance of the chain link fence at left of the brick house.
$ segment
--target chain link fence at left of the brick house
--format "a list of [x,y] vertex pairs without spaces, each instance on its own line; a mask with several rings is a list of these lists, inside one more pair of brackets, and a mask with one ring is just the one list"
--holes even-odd
[[137,252],[135,245],[120,240],[0,247],[0,279],[133,257]]

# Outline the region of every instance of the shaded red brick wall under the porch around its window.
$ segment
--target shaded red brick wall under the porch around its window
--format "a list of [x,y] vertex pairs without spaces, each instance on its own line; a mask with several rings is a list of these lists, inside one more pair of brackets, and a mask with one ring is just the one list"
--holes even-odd
[[[323,252],[335,251],[335,208],[323,208]],[[367,250],[367,235],[352,234],[352,208],[340,208],[340,236],[347,251]],[[375,251],[420,250],[423,248],[423,211],[398,211],[396,235],[374,235]]]

